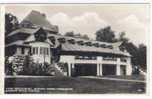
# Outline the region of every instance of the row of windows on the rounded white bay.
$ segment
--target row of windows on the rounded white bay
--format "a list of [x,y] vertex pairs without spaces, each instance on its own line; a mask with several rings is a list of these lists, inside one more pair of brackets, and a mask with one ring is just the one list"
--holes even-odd
[[33,47],[32,54],[49,55],[49,48],[47,48],[47,47]]

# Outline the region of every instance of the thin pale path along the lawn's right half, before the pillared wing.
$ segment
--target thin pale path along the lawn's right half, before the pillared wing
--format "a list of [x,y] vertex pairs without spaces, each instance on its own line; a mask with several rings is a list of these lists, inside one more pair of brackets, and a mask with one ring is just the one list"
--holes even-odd
[[132,80],[132,79],[120,79],[120,78],[110,78],[110,77],[96,77],[96,76],[80,76],[80,78],[93,78],[93,79],[105,79],[105,80],[116,80],[116,81],[128,81],[128,82],[142,82],[146,83],[144,80]]

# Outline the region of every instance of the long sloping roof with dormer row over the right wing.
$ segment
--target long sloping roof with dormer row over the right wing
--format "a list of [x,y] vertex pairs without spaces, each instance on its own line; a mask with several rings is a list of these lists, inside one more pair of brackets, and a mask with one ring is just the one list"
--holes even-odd
[[[107,42],[99,42],[99,41],[92,41],[92,40],[84,40],[80,38],[73,38],[73,37],[67,37],[63,35],[55,35],[55,34],[49,34],[49,37],[56,38],[56,42],[58,42],[59,38],[65,38],[66,42],[62,43],[62,51],[81,51],[81,52],[99,52],[99,53],[111,53],[111,54],[119,54],[124,56],[130,56],[127,52],[122,52],[118,48],[121,45],[121,42],[116,43],[107,43]],[[92,43],[92,46],[87,45],[80,45],[78,43],[69,43],[68,40],[75,40],[75,42],[83,42],[83,43]],[[98,47],[93,45],[99,44],[101,46],[105,47]]]

